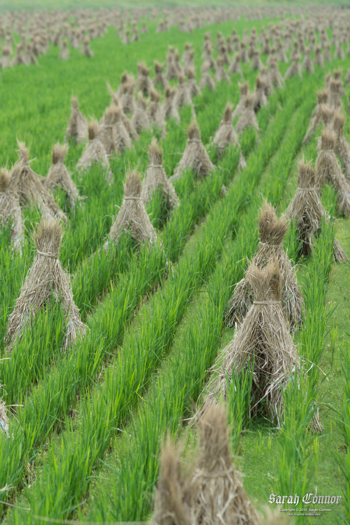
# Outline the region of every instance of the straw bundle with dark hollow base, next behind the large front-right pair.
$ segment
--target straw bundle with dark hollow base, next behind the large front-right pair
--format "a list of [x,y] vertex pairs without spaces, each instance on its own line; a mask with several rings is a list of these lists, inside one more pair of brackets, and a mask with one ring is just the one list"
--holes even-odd
[[[311,162],[299,162],[298,187],[284,216],[295,223],[298,239],[302,243],[300,254],[310,255],[314,239],[321,232],[322,218],[326,222],[330,220],[315,188],[315,173]],[[337,239],[334,241],[334,258],[337,262],[347,260]]]

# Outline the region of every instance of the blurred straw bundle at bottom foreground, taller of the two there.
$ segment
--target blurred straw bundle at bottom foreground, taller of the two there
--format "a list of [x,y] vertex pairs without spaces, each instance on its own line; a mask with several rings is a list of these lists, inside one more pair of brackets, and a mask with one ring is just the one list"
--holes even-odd
[[225,406],[210,406],[198,427],[199,455],[184,487],[192,523],[260,525],[239,472],[232,465]]

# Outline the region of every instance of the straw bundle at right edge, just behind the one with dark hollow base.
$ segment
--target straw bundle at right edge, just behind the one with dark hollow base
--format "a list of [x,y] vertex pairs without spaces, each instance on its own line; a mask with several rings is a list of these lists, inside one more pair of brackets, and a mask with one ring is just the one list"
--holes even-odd
[[331,182],[337,192],[337,206],[346,217],[350,216],[350,186],[344,177],[335,154],[336,135],[333,131],[323,130],[321,150],[315,164],[315,183],[320,188]]

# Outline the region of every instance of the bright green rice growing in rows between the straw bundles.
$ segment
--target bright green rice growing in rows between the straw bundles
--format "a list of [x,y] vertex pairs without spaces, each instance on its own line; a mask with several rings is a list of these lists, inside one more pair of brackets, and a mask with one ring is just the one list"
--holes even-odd
[[[242,13],[239,20],[210,23],[190,34],[179,31],[178,26],[157,33],[160,15],[153,21],[141,18],[137,22],[139,41],[123,44],[116,36],[117,28],[108,25],[103,38],[89,43],[93,57],[68,45],[69,59],[59,60],[60,48],[51,42],[47,53],[38,57],[39,66],[1,70],[1,166],[11,170],[16,163],[18,139],[29,148],[31,170],[46,177],[52,147],[65,141],[72,95],[89,122],[100,121],[111,104],[107,82],[116,92],[123,72],[136,78],[140,62],[151,68],[152,79],[153,63],[165,64],[168,46],[178,49],[181,59],[188,42],[195,50],[199,83],[208,31],[217,60],[217,31],[226,39],[235,29],[242,39],[245,30],[249,36],[255,28],[262,61],[257,70],[251,59],[239,61],[241,73],[232,74],[228,74],[230,66],[224,65],[229,81],[215,81],[213,91],[201,88],[192,104],[178,109],[179,121],[166,119],[166,133],[161,127],[142,130],[130,149],[109,156],[109,167],[98,162],[88,170],[78,170],[87,137],[81,143],[69,141],[65,165],[83,198],[72,205],[62,188],[52,190],[66,224],[60,222],[61,241],[60,231],[55,230],[58,240],[50,248],[49,262],[47,249],[40,252],[40,239],[35,241],[40,237],[43,212],[31,206],[30,198],[21,207],[22,253],[10,247],[11,222],[2,224],[0,385],[9,418],[8,435],[0,432],[4,523],[146,522],[152,518],[167,434],[182,443],[184,464],[193,465],[198,431],[192,418],[214,377],[213,365],[243,322],[238,316],[227,327],[225,316],[236,283],[261,247],[260,209],[266,199],[280,217],[299,187],[300,161],[315,166],[323,124],[309,142],[303,144],[303,139],[316,108],[316,93],[324,89],[325,75],[334,75],[338,69],[345,90],[340,97],[344,136],[350,141],[346,41],[341,44],[344,58],[334,58],[338,44],[331,44],[331,61],[325,60],[323,67],[314,65],[313,72],[302,69],[302,78],[296,74],[285,78],[280,88],[273,88],[267,103],[252,110],[259,131],[249,125],[239,133],[239,144],[224,150],[214,143],[227,102],[235,110],[240,101],[240,85],[248,82],[249,91],[255,93],[261,67],[268,65],[270,70],[270,53],[261,53],[261,33],[270,25],[282,27],[291,17],[289,13],[282,20],[280,12],[275,17],[271,13],[272,9],[263,19]],[[147,34],[141,33],[144,22]],[[323,22],[326,24],[325,19]],[[339,23],[336,18],[333,27],[327,25],[328,41]],[[345,29],[348,23],[344,18]],[[297,36],[295,32],[293,39]],[[315,38],[318,44],[320,31],[315,31]],[[15,39],[19,43],[19,35]],[[304,40],[309,46],[307,31]],[[286,53],[287,62],[277,61],[282,77],[292,63],[292,48]],[[231,64],[235,53],[228,55]],[[313,61],[315,52],[310,56]],[[303,59],[301,53],[299,64]],[[209,75],[214,78],[213,71]],[[179,89],[178,80],[169,80],[169,86]],[[165,89],[159,85],[156,89],[162,102]],[[137,100],[137,90],[133,98]],[[145,100],[148,104],[149,97]],[[187,130],[194,120],[200,138],[190,135],[188,139]],[[238,121],[236,116],[234,127]],[[165,174],[179,204],[169,211],[161,191],[155,191],[145,205],[155,240],[137,243],[128,232],[113,240],[111,226],[125,209],[125,196],[132,199],[136,195],[130,196],[134,186],[127,193],[127,174],[136,170],[145,184],[147,170],[153,165],[149,148],[154,137],[162,148]],[[197,176],[194,169],[185,167],[172,178],[188,140],[195,142],[195,149],[201,141],[213,170]],[[282,515],[291,523],[337,524],[350,519],[350,272],[348,261],[336,262],[333,257],[335,237],[350,257],[350,219],[340,209],[332,181],[325,183],[320,200],[330,219],[322,221],[312,253],[301,255],[294,223],[288,223],[284,237],[283,247],[295,266],[304,305],[302,328],[287,330],[285,336],[292,341],[301,365],[283,388],[278,385],[283,417],[269,417],[267,401],[253,409],[254,368],[231,373],[231,367],[227,381],[225,404],[234,465],[253,508],[262,516],[271,510],[279,514],[270,523],[278,523]],[[52,256],[56,249],[59,259]],[[79,314],[75,311],[68,319],[66,299],[53,285],[46,285],[44,302],[37,292],[35,315],[23,310],[27,313],[21,314],[22,337],[12,340],[9,351],[8,330],[19,311],[16,299],[29,269],[33,266],[39,272],[35,274],[39,289],[57,271],[58,260],[60,282],[65,271],[71,276]],[[77,316],[84,329],[79,336],[78,327],[76,339],[69,344],[67,330]],[[273,339],[278,330],[279,325]],[[320,425],[312,432],[316,418]],[[294,498],[295,494],[300,496],[298,505],[268,503],[270,495]],[[331,506],[306,505],[304,495],[342,498]],[[290,508],[302,514],[300,509],[321,507],[331,511],[321,511],[317,517],[288,517]],[[261,520],[267,522],[265,517]]]

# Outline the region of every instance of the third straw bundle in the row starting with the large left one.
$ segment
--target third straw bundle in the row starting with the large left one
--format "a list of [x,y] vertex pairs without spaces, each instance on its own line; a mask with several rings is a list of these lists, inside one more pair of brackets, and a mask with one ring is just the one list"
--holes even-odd
[[163,192],[163,201],[167,204],[169,210],[179,205],[179,200],[174,190],[174,186],[168,180],[165,170],[162,166],[163,151],[157,145],[156,139],[153,139],[149,148],[149,166],[147,175],[141,191],[141,200],[146,205],[152,198],[156,188],[161,187]]

